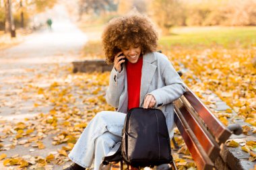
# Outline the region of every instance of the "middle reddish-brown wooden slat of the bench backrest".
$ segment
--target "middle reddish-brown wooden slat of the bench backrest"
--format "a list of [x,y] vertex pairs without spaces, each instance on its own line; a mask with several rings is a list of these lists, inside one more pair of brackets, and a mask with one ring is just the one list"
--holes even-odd
[[197,139],[199,140],[205,153],[207,153],[210,159],[214,161],[220,152],[220,147],[214,138],[210,138],[210,136],[208,136],[210,134],[207,134],[207,131],[205,132],[205,130],[203,130],[203,126],[201,126],[199,122],[195,120],[195,117],[193,114],[191,114],[191,111],[186,108],[187,105],[184,105],[181,99],[178,99],[174,103],[181,111],[181,114],[183,115],[183,118],[185,118],[189,128],[191,128],[195,136],[197,136]]

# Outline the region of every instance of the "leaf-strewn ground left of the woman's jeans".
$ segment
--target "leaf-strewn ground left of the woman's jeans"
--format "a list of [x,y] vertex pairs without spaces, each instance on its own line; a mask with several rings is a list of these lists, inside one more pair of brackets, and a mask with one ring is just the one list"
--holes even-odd
[[[29,79],[20,87],[16,97],[30,103],[28,112],[38,110],[38,113],[18,122],[1,120],[0,159],[4,166],[52,169],[53,165],[64,165],[69,161],[67,153],[88,121],[102,110],[113,110],[106,105],[103,96],[109,73],[73,75],[68,67],[57,65],[45,75],[35,75],[37,79]],[[1,107],[11,105],[11,101],[3,98],[1,101]],[[51,109],[39,112],[45,108]],[[49,153],[40,153],[40,150],[47,150],[47,146],[50,146]],[[26,151],[24,155],[8,154],[15,149]]]

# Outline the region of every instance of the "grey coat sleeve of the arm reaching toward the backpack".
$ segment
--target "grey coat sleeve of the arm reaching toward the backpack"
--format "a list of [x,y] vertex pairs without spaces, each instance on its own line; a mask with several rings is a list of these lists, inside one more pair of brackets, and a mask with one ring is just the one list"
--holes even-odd
[[181,80],[181,77],[169,60],[165,63],[166,65],[162,72],[162,79],[164,80],[165,86],[148,93],[156,99],[155,108],[171,103],[185,93],[185,84]]

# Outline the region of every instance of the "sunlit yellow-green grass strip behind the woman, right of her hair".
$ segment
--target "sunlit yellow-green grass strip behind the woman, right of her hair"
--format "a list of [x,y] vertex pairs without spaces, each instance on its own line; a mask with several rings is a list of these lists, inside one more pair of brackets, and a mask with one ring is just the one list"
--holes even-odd
[[256,46],[256,27],[173,28],[172,34],[162,36],[159,43],[163,46],[192,48],[212,46],[249,48]]

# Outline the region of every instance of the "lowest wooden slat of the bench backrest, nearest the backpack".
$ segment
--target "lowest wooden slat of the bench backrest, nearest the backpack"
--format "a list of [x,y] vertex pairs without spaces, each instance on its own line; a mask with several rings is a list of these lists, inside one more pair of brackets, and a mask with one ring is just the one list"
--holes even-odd
[[187,145],[187,148],[189,149],[189,152],[191,153],[197,165],[197,168],[199,170],[213,169],[214,163],[212,163],[210,158],[207,157],[207,154],[203,150],[201,144],[195,137],[195,134],[193,134],[192,130],[186,127],[185,118],[183,118],[181,112],[179,112],[179,109],[177,109],[177,106],[174,106],[174,107],[176,107],[175,108],[176,114],[174,114],[174,121],[179,131],[181,132],[181,136],[183,136],[183,139]]

